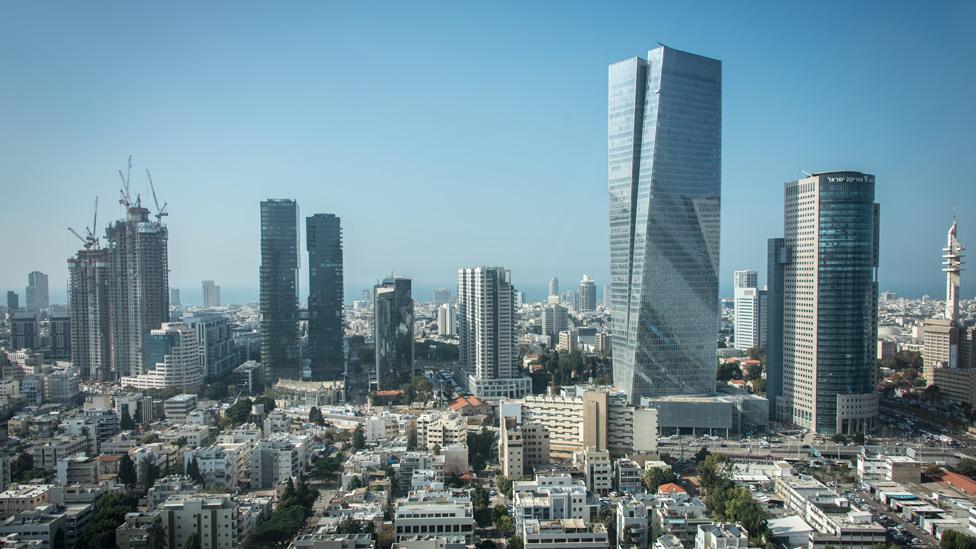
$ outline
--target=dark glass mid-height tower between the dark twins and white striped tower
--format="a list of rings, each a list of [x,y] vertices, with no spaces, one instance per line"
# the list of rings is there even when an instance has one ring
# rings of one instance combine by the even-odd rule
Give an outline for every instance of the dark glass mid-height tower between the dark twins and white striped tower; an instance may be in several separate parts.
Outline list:
[[[373,289],[373,339],[376,384],[395,389],[410,381],[413,367],[413,297],[410,279],[383,279]]]

